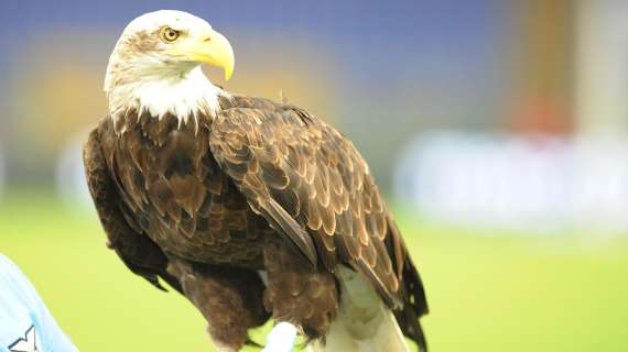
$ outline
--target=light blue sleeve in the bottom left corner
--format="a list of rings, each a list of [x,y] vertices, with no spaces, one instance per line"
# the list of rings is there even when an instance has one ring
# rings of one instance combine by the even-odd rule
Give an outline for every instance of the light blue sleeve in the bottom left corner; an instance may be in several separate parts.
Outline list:
[[[29,321],[36,331],[37,351],[41,352],[76,352],[76,346],[67,336],[61,330],[55,319],[37,295],[33,285],[20,271],[20,268],[9,258],[0,254],[0,309],[6,311],[0,314],[1,327],[10,327],[15,321]],[[10,309],[8,308],[10,307]],[[22,324],[23,326],[23,324]],[[23,328],[21,328],[23,330]],[[6,329],[7,330],[7,329]],[[20,339],[23,336],[20,332]],[[12,332],[14,336],[15,332]],[[9,339],[12,339],[9,337]],[[1,341],[2,339],[0,339]],[[4,350],[3,350],[4,349]],[[9,345],[0,344],[0,352],[7,352]]]

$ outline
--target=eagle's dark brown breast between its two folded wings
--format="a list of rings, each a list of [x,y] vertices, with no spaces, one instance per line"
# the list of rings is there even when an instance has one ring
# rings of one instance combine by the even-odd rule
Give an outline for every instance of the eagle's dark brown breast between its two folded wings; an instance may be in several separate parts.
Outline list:
[[[170,255],[209,264],[261,267],[261,240],[274,233],[253,213],[208,147],[207,117],[178,124],[129,110],[101,121],[102,154],[129,222]],[[116,125],[124,133],[116,134]]]

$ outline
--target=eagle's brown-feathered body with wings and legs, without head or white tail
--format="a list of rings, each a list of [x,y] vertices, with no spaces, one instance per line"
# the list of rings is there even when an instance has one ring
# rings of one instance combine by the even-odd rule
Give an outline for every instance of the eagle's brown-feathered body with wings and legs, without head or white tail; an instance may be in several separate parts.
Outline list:
[[[348,140],[302,109],[241,96],[178,121],[129,110],[102,119],[85,147],[109,245],[131,271],[156,286],[162,277],[215,341],[238,346],[270,315],[325,336],[345,265],[424,344],[421,280]]]

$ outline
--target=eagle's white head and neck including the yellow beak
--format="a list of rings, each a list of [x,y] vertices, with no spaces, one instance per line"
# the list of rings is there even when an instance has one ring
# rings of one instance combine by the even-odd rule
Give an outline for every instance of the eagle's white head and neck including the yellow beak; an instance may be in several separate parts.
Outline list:
[[[127,25],[118,40],[105,77],[109,113],[116,119],[128,109],[166,113],[180,121],[197,113],[214,116],[218,97],[226,95],[201,69],[234,72],[234,51],[207,21],[182,11],[145,13]]]

